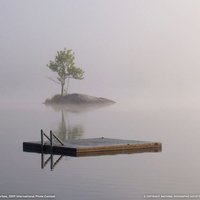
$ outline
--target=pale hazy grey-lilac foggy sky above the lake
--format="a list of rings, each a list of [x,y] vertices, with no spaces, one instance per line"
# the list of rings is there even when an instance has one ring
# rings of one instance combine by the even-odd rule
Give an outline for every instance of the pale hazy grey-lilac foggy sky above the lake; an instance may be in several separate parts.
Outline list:
[[[69,93],[200,102],[199,0],[0,0],[0,102],[60,93],[46,64],[72,49]]]

